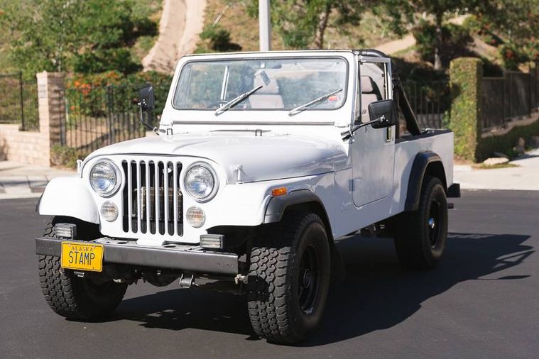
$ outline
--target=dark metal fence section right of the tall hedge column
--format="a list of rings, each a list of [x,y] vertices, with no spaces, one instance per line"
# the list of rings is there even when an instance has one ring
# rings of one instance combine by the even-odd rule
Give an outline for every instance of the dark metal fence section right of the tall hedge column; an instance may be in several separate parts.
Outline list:
[[[484,77],[481,126],[503,127],[514,118],[530,116],[539,106],[538,63],[526,72],[507,71],[503,77]]]

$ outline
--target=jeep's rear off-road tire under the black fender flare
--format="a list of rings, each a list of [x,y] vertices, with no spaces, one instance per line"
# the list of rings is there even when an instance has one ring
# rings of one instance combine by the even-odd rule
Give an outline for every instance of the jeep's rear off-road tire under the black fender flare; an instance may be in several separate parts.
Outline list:
[[[435,267],[447,240],[447,199],[442,182],[425,177],[419,207],[398,217],[395,248],[401,265],[412,269]]]

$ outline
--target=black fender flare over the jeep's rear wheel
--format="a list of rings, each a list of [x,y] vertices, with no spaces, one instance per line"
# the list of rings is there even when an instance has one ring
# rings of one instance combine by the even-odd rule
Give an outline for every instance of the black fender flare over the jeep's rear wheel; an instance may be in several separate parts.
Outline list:
[[[437,168],[432,171],[432,174],[440,178],[447,194],[444,165],[440,156],[430,151],[418,153],[413,160],[412,170],[408,180],[408,192],[406,193],[406,201],[404,204],[405,211],[415,211],[419,208],[419,197],[421,194],[423,178],[425,177],[428,166],[436,162],[439,163],[439,166],[437,165],[437,167],[441,167],[442,170],[440,171],[439,168]]]

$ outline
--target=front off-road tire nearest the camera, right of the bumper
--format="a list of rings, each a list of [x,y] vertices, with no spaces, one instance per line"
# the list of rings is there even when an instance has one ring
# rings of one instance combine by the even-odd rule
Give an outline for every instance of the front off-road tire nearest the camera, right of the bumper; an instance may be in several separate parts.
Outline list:
[[[320,324],[327,301],[331,259],[325,227],[317,214],[295,212],[264,229],[251,249],[249,318],[261,338],[298,343]]]

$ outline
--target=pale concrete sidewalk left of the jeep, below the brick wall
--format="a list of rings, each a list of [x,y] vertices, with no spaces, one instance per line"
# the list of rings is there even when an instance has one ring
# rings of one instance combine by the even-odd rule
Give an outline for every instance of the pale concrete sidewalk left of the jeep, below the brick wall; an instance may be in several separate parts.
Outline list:
[[[75,170],[25,165],[0,161],[0,199],[40,197],[47,183],[55,177],[73,176]]]

